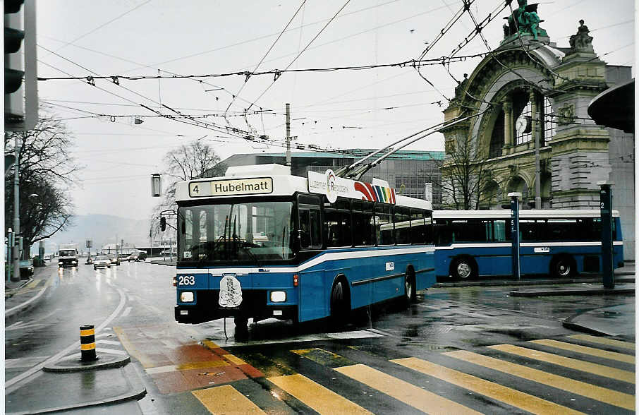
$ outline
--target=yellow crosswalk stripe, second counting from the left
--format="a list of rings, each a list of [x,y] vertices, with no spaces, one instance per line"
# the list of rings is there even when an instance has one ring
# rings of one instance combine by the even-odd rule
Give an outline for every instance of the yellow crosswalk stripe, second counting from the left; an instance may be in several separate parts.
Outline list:
[[[371,414],[358,404],[337,395],[304,375],[276,376],[268,380],[320,414]]]

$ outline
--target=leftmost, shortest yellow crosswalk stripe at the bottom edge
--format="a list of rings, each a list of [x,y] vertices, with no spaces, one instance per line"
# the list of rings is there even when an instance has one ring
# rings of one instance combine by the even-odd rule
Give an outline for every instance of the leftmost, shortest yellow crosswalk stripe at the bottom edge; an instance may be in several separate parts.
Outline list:
[[[212,414],[265,414],[260,407],[251,402],[231,385],[209,387],[194,390],[193,395],[200,399],[202,405]]]

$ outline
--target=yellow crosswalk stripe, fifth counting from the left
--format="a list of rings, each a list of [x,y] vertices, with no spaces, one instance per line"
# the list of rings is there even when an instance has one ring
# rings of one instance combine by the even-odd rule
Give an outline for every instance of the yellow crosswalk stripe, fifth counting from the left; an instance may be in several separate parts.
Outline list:
[[[470,363],[475,363],[476,365],[485,366],[487,368],[494,369],[495,371],[501,371],[520,378],[533,380],[537,383],[543,383],[544,385],[566,390],[577,395],[596,399],[600,402],[605,402],[616,407],[630,409],[631,411],[635,410],[635,397],[633,395],[628,395],[627,393],[590,385],[590,383],[580,382],[579,380],[564,378],[564,376],[539,371],[537,369],[528,368],[509,361],[494,359],[489,356],[473,353],[472,351],[450,351],[448,353],[444,353],[444,355],[468,361]]]

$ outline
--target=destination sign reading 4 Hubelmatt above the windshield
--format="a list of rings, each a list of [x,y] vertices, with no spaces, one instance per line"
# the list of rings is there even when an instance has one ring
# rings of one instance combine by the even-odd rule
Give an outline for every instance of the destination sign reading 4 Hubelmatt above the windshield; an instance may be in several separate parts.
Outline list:
[[[188,196],[206,198],[212,196],[260,195],[273,192],[271,177],[252,177],[250,179],[224,179],[211,181],[191,181],[188,184]]]

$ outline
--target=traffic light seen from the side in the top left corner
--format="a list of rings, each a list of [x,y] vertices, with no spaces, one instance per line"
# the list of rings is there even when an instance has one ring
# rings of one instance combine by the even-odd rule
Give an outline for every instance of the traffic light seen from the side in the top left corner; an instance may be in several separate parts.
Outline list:
[[[4,0],[6,131],[27,131],[37,123],[36,66],[35,0]]]

